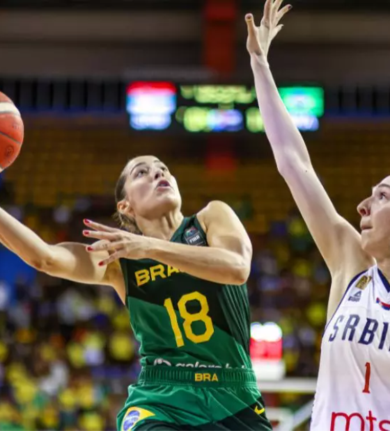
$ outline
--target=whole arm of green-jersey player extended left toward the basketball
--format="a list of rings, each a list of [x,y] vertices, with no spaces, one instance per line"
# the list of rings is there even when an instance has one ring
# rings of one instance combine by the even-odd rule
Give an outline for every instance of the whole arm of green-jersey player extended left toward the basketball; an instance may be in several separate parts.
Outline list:
[[[86,245],[79,243],[49,245],[1,208],[0,242],[39,271],[80,283],[107,284],[125,299],[118,264],[98,265],[107,258],[108,252],[91,254],[86,251]]]

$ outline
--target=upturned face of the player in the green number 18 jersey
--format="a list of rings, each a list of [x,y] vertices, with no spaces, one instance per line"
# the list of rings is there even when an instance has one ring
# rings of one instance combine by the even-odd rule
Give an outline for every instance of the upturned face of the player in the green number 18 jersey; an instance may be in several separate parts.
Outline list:
[[[126,171],[125,193],[131,215],[153,219],[180,208],[176,179],[157,157],[133,158]]]

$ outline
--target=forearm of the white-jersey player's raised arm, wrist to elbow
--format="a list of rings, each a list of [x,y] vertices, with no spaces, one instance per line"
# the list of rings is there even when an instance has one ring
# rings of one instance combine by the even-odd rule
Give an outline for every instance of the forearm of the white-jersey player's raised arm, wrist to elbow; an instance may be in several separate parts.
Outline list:
[[[279,170],[291,161],[310,164],[304,140],[283,104],[267,62],[263,57],[252,54],[251,66],[258,106]]]

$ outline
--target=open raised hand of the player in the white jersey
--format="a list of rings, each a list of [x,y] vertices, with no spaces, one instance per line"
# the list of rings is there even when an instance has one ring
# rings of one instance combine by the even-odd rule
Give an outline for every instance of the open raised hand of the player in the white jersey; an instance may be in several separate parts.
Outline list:
[[[263,56],[267,60],[272,40],[283,29],[280,20],[292,8],[290,4],[281,8],[283,0],[267,0],[264,5],[264,15],[260,27],[256,24],[251,13],[245,16],[248,27],[247,49],[249,54]]]

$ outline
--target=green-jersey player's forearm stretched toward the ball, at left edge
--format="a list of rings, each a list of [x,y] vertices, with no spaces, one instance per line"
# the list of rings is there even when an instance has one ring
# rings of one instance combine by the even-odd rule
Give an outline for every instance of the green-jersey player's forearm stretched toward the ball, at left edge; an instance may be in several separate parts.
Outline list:
[[[35,268],[50,256],[50,246],[45,241],[1,208],[0,242]]]

